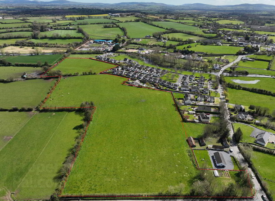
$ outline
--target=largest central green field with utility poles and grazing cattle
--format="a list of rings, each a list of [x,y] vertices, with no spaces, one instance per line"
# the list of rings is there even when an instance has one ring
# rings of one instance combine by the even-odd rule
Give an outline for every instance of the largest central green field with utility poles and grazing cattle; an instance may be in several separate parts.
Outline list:
[[[181,183],[183,193],[189,192],[197,170],[171,93],[124,86],[124,80],[105,74],[68,77],[46,103],[91,100],[97,107],[63,195],[157,194]]]

